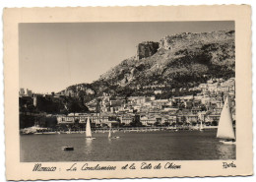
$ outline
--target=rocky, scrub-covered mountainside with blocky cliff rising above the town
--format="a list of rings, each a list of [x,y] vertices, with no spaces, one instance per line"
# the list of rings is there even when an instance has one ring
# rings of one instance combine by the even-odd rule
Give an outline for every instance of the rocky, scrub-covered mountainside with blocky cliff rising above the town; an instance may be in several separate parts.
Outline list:
[[[142,42],[135,56],[123,60],[92,84],[76,85],[62,93],[90,100],[111,95],[150,94],[153,88],[192,88],[211,78],[228,79],[235,71],[234,30],[183,32],[160,42]]]

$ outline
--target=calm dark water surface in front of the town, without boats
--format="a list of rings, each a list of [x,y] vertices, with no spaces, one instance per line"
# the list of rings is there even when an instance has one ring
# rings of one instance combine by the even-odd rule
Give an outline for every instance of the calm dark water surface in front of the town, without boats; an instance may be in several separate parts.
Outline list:
[[[216,139],[217,131],[178,131],[123,133],[108,140],[108,133],[22,135],[21,161],[116,161],[116,160],[201,160],[235,159],[235,145],[224,145]],[[73,152],[62,151],[74,147]]]

